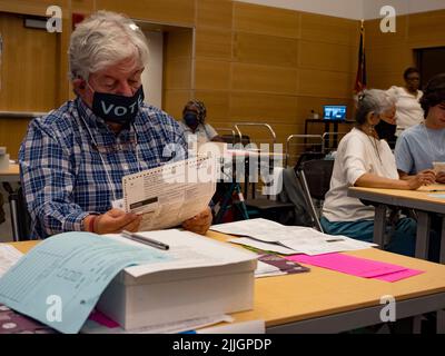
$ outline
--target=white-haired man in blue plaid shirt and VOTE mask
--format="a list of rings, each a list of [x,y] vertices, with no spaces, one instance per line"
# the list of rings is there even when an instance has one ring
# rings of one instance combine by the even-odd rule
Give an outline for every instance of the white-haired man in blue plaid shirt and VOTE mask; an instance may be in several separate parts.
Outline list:
[[[123,176],[187,157],[184,131],[144,103],[146,38],[125,16],[98,11],[71,34],[76,99],[31,121],[20,148],[32,237],[138,230],[140,217],[112,208]],[[182,224],[205,234],[210,209]]]

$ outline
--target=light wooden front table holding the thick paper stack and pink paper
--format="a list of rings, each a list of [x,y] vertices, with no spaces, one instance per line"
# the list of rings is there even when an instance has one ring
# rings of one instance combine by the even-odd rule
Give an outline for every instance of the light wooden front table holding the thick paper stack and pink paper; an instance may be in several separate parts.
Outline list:
[[[227,236],[207,234],[218,240]],[[37,241],[12,244],[27,251]],[[445,266],[378,249],[347,255],[392,263],[426,273],[387,283],[310,266],[309,273],[257,278],[254,309],[235,313],[235,322],[263,319],[267,333],[339,333],[379,324],[383,296],[396,299],[396,318],[445,309]],[[445,323],[438,318],[438,333]]]

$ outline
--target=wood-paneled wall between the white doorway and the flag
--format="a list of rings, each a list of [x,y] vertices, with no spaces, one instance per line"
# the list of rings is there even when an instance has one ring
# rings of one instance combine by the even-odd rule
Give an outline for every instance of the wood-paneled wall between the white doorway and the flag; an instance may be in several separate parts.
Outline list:
[[[304,132],[312,109],[352,110],[357,21],[228,0],[196,3],[194,93],[216,128],[267,122],[284,142]],[[245,130],[269,138],[264,128]]]

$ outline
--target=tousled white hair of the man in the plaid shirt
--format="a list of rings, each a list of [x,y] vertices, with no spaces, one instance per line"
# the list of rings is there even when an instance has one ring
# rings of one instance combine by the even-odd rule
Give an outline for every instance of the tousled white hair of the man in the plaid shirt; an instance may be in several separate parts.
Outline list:
[[[137,57],[145,66],[148,44],[139,27],[123,14],[98,11],[76,27],[68,50],[70,78],[88,80],[90,73]]]

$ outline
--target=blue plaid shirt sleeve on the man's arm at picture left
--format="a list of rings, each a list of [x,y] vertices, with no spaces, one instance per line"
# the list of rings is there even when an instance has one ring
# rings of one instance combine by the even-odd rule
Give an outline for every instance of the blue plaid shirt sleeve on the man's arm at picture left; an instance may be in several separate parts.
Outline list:
[[[68,150],[51,130],[33,120],[20,147],[20,178],[33,237],[82,229],[88,215],[71,201],[75,172]]]

